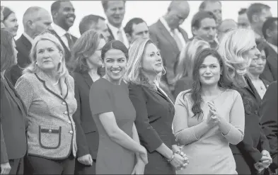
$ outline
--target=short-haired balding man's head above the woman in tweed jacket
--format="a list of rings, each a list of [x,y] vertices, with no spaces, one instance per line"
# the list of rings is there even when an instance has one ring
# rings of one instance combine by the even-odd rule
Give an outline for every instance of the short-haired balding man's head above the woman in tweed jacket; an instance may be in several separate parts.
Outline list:
[[[44,30],[51,29],[51,23],[50,13],[39,6],[31,6],[23,15],[24,31],[30,37],[34,37],[34,35],[42,33]]]

